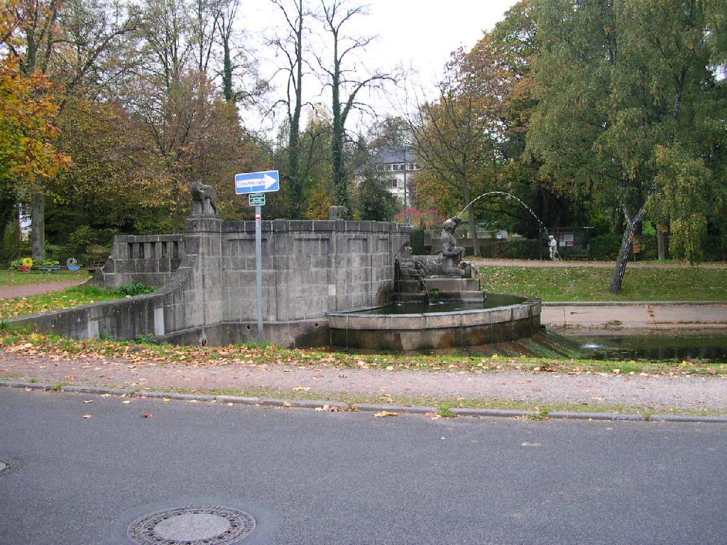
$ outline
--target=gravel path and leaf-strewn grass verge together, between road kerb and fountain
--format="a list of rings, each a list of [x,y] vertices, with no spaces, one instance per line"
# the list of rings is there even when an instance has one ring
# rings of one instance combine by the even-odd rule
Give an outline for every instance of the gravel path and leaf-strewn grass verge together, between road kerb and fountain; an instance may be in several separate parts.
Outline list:
[[[437,408],[727,413],[727,366],[513,355],[361,355],[0,335],[0,379]],[[512,347],[505,352],[510,352]]]

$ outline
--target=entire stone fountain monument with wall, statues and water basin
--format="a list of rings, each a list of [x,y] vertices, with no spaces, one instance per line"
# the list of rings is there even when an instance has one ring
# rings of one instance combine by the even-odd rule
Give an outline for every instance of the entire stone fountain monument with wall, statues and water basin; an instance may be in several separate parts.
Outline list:
[[[185,233],[119,235],[95,286],[137,281],[153,294],[9,320],[74,339],[153,335],[174,344],[259,339],[254,233],[262,231],[263,338],[286,347],[369,350],[477,346],[531,336],[540,301],[483,294],[454,232],[443,224],[438,256],[412,255],[409,226],[275,219],[228,222],[214,188],[190,187]],[[399,249],[396,251],[396,249]],[[385,306],[389,304],[389,306]]]

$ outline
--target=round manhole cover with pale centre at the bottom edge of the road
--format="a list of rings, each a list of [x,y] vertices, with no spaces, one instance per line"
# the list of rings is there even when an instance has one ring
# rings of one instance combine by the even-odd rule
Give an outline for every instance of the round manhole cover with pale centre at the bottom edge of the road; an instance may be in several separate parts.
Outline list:
[[[229,545],[255,528],[238,509],[217,505],[186,506],[145,514],[126,530],[138,545]]]

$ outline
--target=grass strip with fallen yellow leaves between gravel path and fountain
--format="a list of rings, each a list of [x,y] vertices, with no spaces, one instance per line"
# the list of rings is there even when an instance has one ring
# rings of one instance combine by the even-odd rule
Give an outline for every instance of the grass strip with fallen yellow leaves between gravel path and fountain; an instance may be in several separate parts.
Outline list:
[[[316,374],[314,379],[324,376],[325,368],[355,368],[379,369],[382,371],[422,370],[444,373],[472,373],[497,371],[529,372],[558,372],[571,374],[602,374],[608,376],[619,374],[635,374],[635,372],[648,371],[648,374],[712,374],[727,375],[727,366],[722,364],[718,368],[708,367],[707,363],[688,362],[673,365],[664,363],[635,361],[619,364],[611,368],[608,362],[595,362],[588,360],[567,360],[561,358],[535,358],[508,355],[467,355],[467,354],[348,354],[343,352],[325,352],[324,350],[282,349],[275,345],[257,344],[230,344],[222,347],[196,347],[176,346],[172,344],[138,344],[134,342],[116,342],[102,339],[89,339],[75,341],[60,336],[18,333],[14,331],[0,331],[0,351],[10,354],[27,356],[28,358],[54,362],[68,361],[83,363],[81,369],[102,371],[105,366],[124,366],[132,374],[137,374],[145,368],[161,367],[167,364],[178,364],[185,368],[212,368],[231,366],[234,368],[247,368],[256,372],[268,371],[294,371],[296,368],[311,369]],[[543,336],[540,339],[542,346],[551,352],[558,352],[551,347],[553,339]],[[530,350],[526,344],[516,342],[502,344],[502,350],[518,352]],[[632,368],[624,369],[630,365]],[[58,363],[55,363],[58,366]],[[635,368],[633,366],[640,366]],[[633,371],[635,369],[635,371]],[[354,371],[355,372],[355,371]],[[337,374],[340,378],[347,378],[346,374]],[[294,387],[294,392],[305,392],[310,389],[305,386]]]

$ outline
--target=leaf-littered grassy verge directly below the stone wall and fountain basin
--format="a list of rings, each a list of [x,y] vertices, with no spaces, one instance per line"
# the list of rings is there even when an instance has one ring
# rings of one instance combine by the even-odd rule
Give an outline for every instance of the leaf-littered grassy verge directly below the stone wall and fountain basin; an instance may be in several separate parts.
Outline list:
[[[62,336],[3,331],[0,349],[49,358],[122,358],[129,362],[184,363],[195,367],[269,366],[325,367],[334,369],[382,369],[385,371],[502,371],[606,372],[611,374],[727,375],[727,365],[693,361],[587,360],[563,355],[567,341],[554,334],[540,334],[531,341],[503,343],[493,352],[466,354],[361,354],[321,350],[285,349],[275,345],[233,344],[223,347],[192,347],[173,344],[115,342],[102,339],[75,341]],[[539,353],[539,355],[534,355]],[[575,352],[574,352],[575,353]]]

